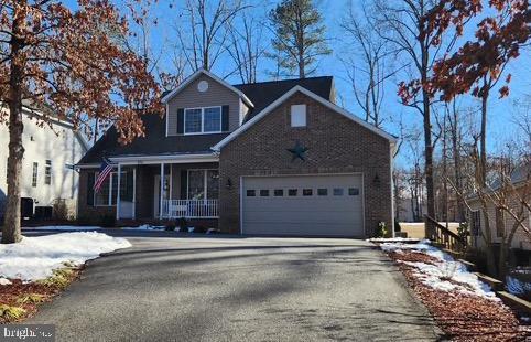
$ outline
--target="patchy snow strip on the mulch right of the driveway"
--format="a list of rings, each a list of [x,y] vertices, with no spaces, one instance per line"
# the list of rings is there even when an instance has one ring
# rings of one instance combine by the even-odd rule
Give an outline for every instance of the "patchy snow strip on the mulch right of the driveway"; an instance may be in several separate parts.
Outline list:
[[[436,258],[435,265],[425,263],[401,261],[413,267],[414,275],[426,286],[442,291],[459,291],[466,295],[475,295],[491,300],[499,300],[490,287],[480,281],[478,277],[469,272],[465,265],[455,261],[454,258],[438,248],[430,245],[424,239],[418,244],[383,243],[380,245],[384,252],[402,253],[403,250],[423,253]]]

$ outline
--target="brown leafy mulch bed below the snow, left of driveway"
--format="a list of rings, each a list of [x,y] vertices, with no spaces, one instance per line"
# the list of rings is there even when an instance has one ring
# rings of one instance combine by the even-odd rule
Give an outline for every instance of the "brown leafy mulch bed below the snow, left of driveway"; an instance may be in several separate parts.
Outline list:
[[[72,284],[72,281],[79,278],[79,275],[83,270],[82,268],[73,269],[72,275],[67,277],[67,285]],[[23,317],[17,320],[10,320],[2,316],[0,316],[0,324],[2,323],[11,323],[11,322],[20,322],[24,319],[32,317],[37,311],[37,307],[42,302],[51,301],[53,297],[61,293],[66,286],[58,286],[58,285],[44,285],[40,282],[22,282],[19,279],[11,280],[11,285],[0,285],[0,306],[7,304],[10,307],[22,308],[25,310]],[[41,295],[43,296],[43,301],[40,303],[32,303],[25,302],[21,303],[19,300],[28,295]]]

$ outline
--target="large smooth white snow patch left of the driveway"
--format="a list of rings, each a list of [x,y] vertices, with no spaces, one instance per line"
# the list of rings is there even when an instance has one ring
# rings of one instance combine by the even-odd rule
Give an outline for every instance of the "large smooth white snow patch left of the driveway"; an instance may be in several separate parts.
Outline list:
[[[79,266],[101,253],[128,247],[131,244],[127,239],[97,232],[23,237],[18,244],[0,245],[0,280],[45,279],[65,263]]]

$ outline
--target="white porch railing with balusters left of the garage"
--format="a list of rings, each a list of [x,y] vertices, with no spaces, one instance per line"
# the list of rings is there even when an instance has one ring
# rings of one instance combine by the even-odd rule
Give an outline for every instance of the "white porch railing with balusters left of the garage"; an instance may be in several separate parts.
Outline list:
[[[217,200],[163,200],[163,218],[217,218]]]

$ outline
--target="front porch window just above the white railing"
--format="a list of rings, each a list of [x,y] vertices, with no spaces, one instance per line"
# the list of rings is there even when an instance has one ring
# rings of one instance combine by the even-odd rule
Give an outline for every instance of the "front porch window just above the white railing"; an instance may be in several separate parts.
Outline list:
[[[188,170],[188,200],[217,200],[219,197],[218,170]]]

